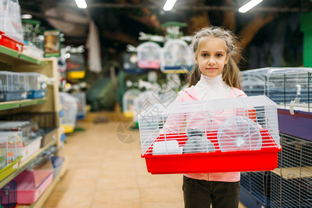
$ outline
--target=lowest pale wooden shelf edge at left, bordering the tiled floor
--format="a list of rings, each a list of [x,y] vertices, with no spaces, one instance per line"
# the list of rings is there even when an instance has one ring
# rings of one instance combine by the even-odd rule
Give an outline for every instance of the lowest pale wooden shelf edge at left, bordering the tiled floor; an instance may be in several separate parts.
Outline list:
[[[38,200],[32,205],[19,205],[18,208],[41,208],[43,207],[44,202],[47,201],[47,199],[51,195],[52,191],[55,189],[58,182],[60,182],[63,175],[65,175],[68,164],[69,164],[69,158],[65,157],[62,168],[60,169],[60,173],[54,178],[54,180],[51,182],[49,187],[44,191],[44,193],[42,193],[40,198],[38,198]]]

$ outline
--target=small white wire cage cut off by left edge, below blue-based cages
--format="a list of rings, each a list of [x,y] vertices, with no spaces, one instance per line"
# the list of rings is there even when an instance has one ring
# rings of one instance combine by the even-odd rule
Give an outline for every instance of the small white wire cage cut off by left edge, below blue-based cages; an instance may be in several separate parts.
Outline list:
[[[21,132],[0,132],[0,169],[17,159],[17,143]]]

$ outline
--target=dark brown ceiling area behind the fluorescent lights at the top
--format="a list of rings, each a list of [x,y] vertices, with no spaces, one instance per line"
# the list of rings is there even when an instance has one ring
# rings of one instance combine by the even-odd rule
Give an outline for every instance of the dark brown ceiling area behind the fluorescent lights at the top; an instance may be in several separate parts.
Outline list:
[[[86,10],[77,8],[74,0],[24,0],[19,3],[22,14],[33,15],[33,19],[42,22],[43,28],[54,28],[51,20],[76,26],[72,33],[65,33],[65,44],[85,44],[88,19],[93,19],[102,46],[112,50],[124,50],[126,44],[137,46],[141,31],[165,35],[165,28],[161,25],[167,21],[185,22],[187,26],[182,28],[185,35],[192,35],[198,28],[208,24],[225,26],[236,31],[242,38],[243,46],[246,46],[257,31],[273,19],[312,10],[312,0],[264,0],[245,14],[239,13],[238,8],[249,0],[178,0],[171,12],[163,11],[165,0],[86,1]],[[56,15],[51,15],[51,10]],[[87,21],[66,17],[69,13]]]

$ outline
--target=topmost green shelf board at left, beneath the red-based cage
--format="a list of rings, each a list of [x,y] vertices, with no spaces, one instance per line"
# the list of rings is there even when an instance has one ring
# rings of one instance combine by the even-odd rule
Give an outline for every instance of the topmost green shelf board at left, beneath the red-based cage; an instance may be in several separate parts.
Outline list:
[[[31,64],[38,64],[44,66],[46,63],[42,60],[38,60],[32,58],[28,55],[24,55],[19,53],[19,51],[15,51],[13,49],[9,49],[6,46],[0,46],[0,62],[7,63],[7,62],[24,62],[31,63]]]

